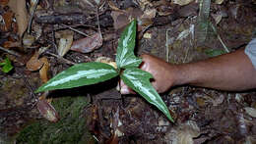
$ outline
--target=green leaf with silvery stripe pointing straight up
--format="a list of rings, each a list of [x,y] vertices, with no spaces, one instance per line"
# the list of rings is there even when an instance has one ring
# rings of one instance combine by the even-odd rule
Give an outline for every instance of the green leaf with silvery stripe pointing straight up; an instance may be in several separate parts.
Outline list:
[[[118,41],[116,65],[118,70],[139,67],[142,60],[135,57],[136,20],[128,24]]]

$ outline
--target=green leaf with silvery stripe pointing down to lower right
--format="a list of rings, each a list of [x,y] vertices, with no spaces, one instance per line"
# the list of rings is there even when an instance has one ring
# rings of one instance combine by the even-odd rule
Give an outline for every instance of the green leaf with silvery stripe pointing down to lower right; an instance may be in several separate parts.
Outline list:
[[[174,122],[168,108],[150,82],[150,78],[153,78],[151,73],[144,72],[138,68],[130,68],[121,74],[121,78],[126,85],[142,95],[148,102],[155,105],[169,120]]]

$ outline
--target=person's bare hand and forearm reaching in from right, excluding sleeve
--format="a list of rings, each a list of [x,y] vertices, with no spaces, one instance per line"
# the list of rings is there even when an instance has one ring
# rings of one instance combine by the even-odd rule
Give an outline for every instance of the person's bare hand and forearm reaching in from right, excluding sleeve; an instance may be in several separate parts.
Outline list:
[[[256,88],[256,70],[244,49],[182,65],[172,65],[151,55],[142,55],[142,59],[144,63],[141,69],[153,74],[153,86],[160,93],[183,84],[227,91]],[[121,81],[121,93],[133,92]]]

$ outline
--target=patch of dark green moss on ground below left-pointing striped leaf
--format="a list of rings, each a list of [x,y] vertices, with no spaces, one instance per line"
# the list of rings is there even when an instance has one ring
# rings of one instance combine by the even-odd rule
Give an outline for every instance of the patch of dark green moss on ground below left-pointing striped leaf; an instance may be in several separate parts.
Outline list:
[[[87,131],[86,120],[81,116],[88,104],[85,97],[62,97],[52,105],[60,115],[56,123],[39,120],[24,128],[18,135],[17,143],[28,144],[76,144],[94,143]]]

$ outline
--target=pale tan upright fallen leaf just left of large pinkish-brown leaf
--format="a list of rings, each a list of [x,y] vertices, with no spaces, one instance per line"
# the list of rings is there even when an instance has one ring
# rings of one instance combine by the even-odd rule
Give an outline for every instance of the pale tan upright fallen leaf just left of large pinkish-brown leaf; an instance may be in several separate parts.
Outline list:
[[[59,40],[58,55],[63,57],[71,48],[73,42],[73,34],[64,35]]]

